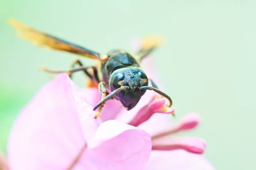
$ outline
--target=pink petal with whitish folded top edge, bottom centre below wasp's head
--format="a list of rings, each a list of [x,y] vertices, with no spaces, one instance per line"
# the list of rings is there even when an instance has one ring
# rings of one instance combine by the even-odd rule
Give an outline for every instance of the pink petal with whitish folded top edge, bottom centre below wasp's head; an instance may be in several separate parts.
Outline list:
[[[84,153],[81,164],[95,170],[140,170],[151,153],[151,137],[116,120],[103,122]]]

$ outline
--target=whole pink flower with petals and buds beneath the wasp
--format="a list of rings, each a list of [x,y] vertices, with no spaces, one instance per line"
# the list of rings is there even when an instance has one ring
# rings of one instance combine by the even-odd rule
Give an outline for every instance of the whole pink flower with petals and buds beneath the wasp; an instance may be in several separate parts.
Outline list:
[[[151,136],[144,130],[116,120],[108,120],[117,115],[113,114],[114,111],[122,112],[117,115],[119,118],[124,118],[122,114],[129,114],[123,111],[121,104],[116,101],[109,101],[106,104],[108,108],[99,119],[94,119],[95,112],[87,102],[93,101],[90,99],[93,93],[95,98],[100,95],[96,94],[98,91],[94,88],[82,91],[66,74],[59,74],[35,95],[18,116],[10,133],[7,156],[11,170],[148,170],[161,166],[183,170],[186,167],[181,166],[185,165],[188,165],[190,170],[212,169],[199,155],[174,151],[180,148],[190,148],[186,150],[191,151],[191,148],[195,147],[197,149],[193,152],[197,153],[198,148],[201,148],[198,147],[198,142],[195,142],[195,146],[189,146],[190,142],[181,140],[183,144],[180,145],[179,141],[176,141],[179,144],[172,145],[177,139],[169,140],[171,143],[168,144],[152,139],[152,147]],[[86,98],[88,95],[89,99]],[[151,92],[146,93],[136,109],[146,102],[148,95],[151,95]],[[137,119],[141,114],[152,114],[161,110],[159,105],[162,103],[162,99],[155,99],[145,106],[130,124],[139,125],[143,122],[140,122],[142,119]],[[148,112],[147,108],[152,110]],[[162,112],[168,114],[173,113],[173,110]],[[131,115],[133,113],[131,112]],[[105,119],[105,122],[102,119]],[[147,121],[147,124],[150,124],[150,121]],[[191,121],[183,121],[185,123],[175,126],[176,130],[172,130],[172,133],[195,126]],[[197,122],[198,120],[195,120],[195,124]],[[154,125],[162,124],[164,122]],[[161,148],[161,144],[164,144],[165,148]],[[151,152],[151,148],[172,151]],[[204,146],[198,153],[203,150]],[[200,166],[202,168],[199,168]]]

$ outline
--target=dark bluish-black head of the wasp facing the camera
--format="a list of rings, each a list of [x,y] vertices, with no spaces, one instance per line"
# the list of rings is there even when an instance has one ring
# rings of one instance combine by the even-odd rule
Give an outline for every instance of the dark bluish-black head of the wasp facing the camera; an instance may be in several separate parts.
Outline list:
[[[129,89],[121,91],[114,97],[119,100],[128,110],[134,108],[146,90],[139,89],[148,85],[148,77],[140,68],[126,67],[119,68],[111,74],[109,86],[111,91],[128,86]]]

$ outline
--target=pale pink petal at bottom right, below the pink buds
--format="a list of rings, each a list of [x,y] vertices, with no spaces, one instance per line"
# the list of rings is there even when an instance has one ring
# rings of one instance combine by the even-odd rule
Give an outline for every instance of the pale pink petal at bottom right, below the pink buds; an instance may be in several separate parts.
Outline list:
[[[214,170],[204,156],[184,150],[152,151],[144,170]]]

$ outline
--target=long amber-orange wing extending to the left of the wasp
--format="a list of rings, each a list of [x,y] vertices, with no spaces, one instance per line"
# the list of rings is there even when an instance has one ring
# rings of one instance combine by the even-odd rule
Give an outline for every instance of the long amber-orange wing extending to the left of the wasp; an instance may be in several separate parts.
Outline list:
[[[26,40],[35,42],[41,47],[48,47],[59,51],[67,51],[73,54],[77,54],[83,57],[88,57],[92,59],[100,59],[100,54],[91,51],[87,48],[81,47],[80,45],[67,42],[58,37],[37,31],[33,28],[20,23],[14,19],[10,19],[9,23],[16,28],[17,33],[20,37],[23,37]]]

